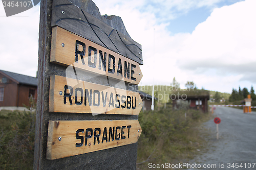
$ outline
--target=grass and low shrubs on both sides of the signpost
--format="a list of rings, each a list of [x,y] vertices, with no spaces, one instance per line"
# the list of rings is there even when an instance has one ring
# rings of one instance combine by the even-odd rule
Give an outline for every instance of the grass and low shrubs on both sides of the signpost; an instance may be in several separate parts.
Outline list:
[[[177,164],[193,159],[206,145],[200,125],[210,116],[172,108],[141,112],[137,169],[148,169],[149,162]],[[0,111],[0,169],[33,169],[34,133],[32,110]]]

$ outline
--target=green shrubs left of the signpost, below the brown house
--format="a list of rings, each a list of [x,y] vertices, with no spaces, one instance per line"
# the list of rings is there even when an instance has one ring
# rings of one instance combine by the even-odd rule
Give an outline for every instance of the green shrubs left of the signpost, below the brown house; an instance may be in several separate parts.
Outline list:
[[[0,169],[33,169],[35,101],[30,111],[0,111]]]

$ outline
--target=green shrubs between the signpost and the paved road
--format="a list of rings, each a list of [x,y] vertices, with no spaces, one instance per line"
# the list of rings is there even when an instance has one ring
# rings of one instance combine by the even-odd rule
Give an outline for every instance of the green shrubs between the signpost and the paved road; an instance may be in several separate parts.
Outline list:
[[[149,162],[179,163],[192,159],[197,150],[205,145],[199,126],[209,116],[198,110],[141,112],[139,122],[142,133],[138,140],[137,169],[148,169]]]

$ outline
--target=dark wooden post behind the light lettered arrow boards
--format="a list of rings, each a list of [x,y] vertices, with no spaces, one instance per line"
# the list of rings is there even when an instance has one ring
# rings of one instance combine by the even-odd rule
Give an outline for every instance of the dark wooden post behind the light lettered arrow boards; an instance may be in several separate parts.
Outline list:
[[[67,1],[67,3],[69,2]],[[66,74],[67,67],[50,62],[53,1],[42,0],[40,4],[34,169],[136,169],[137,142],[55,160],[47,159],[49,120],[134,120],[138,119],[138,115],[99,114],[93,116],[92,114],[82,113],[49,112],[50,76],[57,75],[73,79],[76,79],[76,77]],[[130,55],[130,52],[127,52],[127,54]],[[141,52],[138,54],[141,54]],[[84,77],[90,78],[91,75],[87,73]],[[109,82],[100,76],[90,81],[110,86]],[[125,83],[124,87],[118,88],[132,91],[138,90],[137,85],[129,85],[128,83]]]

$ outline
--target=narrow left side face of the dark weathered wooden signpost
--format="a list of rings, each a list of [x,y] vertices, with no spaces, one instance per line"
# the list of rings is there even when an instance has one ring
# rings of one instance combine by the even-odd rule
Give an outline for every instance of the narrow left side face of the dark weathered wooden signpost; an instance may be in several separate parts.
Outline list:
[[[47,143],[47,111],[45,93],[49,91],[49,81],[47,81],[46,65],[50,57],[51,48],[51,15],[52,0],[41,0],[40,2],[40,22],[39,22],[39,43],[38,43],[38,86],[36,105],[36,127],[35,127],[35,148],[34,148],[34,169],[47,169],[46,166],[46,143]],[[49,98],[49,95],[48,95]]]

